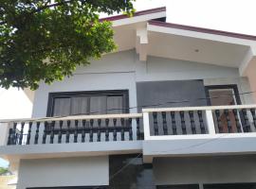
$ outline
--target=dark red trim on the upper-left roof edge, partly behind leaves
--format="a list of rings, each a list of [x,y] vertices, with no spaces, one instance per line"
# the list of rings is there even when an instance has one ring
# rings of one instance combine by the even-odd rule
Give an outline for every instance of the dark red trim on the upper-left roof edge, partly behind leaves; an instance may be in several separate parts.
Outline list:
[[[162,8],[146,9],[146,10],[137,11],[133,15],[133,17],[141,16],[141,15],[145,15],[145,14],[152,14],[152,13],[161,12],[161,11],[166,11],[166,8],[162,7]],[[121,14],[121,15],[117,15],[117,16],[101,18],[100,21],[116,21],[116,20],[120,20],[120,19],[124,19],[124,18],[129,18],[129,16]]]

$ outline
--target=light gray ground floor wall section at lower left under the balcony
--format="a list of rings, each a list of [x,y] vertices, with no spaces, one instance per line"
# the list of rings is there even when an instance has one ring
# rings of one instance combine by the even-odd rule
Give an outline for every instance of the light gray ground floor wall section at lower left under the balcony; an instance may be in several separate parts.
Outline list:
[[[22,160],[17,189],[108,185],[108,156]]]

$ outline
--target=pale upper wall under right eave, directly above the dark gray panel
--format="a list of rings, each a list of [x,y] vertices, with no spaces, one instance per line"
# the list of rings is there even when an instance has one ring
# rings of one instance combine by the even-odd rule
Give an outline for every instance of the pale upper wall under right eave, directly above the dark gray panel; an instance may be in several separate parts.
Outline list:
[[[239,77],[238,69],[185,60],[148,57],[138,81]]]

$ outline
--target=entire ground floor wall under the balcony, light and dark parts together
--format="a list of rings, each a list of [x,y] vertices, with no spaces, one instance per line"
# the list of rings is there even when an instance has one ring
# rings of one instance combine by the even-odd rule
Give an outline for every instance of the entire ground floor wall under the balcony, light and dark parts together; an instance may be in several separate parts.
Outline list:
[[[23,160],[17,189],[203,189],[215,183],[256,183],[256,156],[155,158],[152,164],[143,163],[142,154]]]

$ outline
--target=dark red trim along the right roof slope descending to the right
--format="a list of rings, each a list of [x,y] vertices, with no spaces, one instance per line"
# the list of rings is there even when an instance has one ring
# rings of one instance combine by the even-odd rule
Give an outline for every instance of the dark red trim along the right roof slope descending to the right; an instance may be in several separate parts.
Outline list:
[[[149,24],[154,25],[154,26],[172,27],[172,28],[177,28],[177,29],[185,29],[185,30],[191,30],[191,31],[196,31],[196,32],[210,33],[210,34],[215,34],[215,35],[222,35],[222,36],[228,36],[228,37],[233,37],[233,38],[240,38],[240,39],[245,39],[245,40],[256,41],[256,36],[241,34],[241,33],[233,33],[233,32],[229,32],[229,31],[221,31],[221,30],[196,27],[196,26],[177,25],[177,24],[173,24],[173,23],[163,23],[163,22],[159,22],[159,21],[149,21]]]

